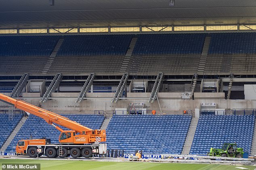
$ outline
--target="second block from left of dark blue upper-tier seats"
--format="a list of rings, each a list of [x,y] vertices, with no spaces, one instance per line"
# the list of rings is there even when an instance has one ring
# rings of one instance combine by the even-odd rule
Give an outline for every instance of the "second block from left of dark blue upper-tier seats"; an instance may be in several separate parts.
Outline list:
[[[68,35],[58,55],[125,55],[132,35]]]

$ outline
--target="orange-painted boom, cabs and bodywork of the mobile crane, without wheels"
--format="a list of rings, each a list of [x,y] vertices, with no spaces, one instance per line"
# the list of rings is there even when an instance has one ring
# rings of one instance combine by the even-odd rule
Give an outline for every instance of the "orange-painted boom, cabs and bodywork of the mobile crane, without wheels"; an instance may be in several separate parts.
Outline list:
[[[63,139],[63,140],[59,139],[60,143],[77,143],[77,144],[78,143],[79,144],[94,143],[96,141],[96,137],[100,137],[101,142],[106,141],[106,131],[105,130],[90,129],[88,127],[85,127],[85,126],[77,123],[76,121],[71,121],[64,116],[47,111],[40,107],[36,107],[33,104],[24,102],[23,100],[11,98],[11,97],[6,96],[1,93],[0,93],[0,100],[7,102],[9,104],[13,104],[15,106],[15,108],[17,108],[17,109],[21,109],[23,111],[26,111],[33,115],[41,117],[50,125],[57,124],[57,125],[61,125],[63,127],[67,127],[68,129],[71,129],[71,131],[64,131],[60,127],[54,125],[55,128],[58,129],[59,131],[61,131],[62,133],[67,133],[67,132],[71,133],[71,139],[70,138]],[[75,133],[75,135],[73,135],[73,133]],[[79,133],[79,134],[76,135],[76,133]],[[37,139],[27,140],[27,144],[29,144],[29,141],[33,142],[34,140],[37,140]],[[38,141],[39,140],[40,139],[38,139]],[[25,142],[25,145],[26,145],[26,142]]]

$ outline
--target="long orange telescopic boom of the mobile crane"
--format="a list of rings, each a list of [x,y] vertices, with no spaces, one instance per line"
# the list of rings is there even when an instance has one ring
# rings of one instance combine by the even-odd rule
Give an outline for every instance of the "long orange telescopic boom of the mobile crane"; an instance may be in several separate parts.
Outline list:
[[[50,125],[52,125],[52,123],[55,123],[57,125],[61,125],[63,127],[67,127],[68,129],[74,130],[80,134],[87,134],[93,131],[93,129],[85,127],[77,123],[76,121],[71,121],[67,117],[64,117],[56,113],[42,109],[40,107],[34,106],[33,104],[29,104],[27,102],[24,102],[23,100],[14,99],[1,93],[0,93],[0,100],[2,100],[3,102],[7,102],[8,104],[14,105],[15,108],[17,109],[21,109],[23,111],[26,111],[33,115],[41,117]],[[63,129],[61,129],[56,125],[54,126],[59,131],[63,132]]]

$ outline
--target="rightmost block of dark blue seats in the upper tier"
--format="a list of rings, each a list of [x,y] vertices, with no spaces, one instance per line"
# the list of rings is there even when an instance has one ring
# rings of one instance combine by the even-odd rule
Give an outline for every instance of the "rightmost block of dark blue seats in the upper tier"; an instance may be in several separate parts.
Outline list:
[[[212,33],[209,54],[256,53],[256,33]]]

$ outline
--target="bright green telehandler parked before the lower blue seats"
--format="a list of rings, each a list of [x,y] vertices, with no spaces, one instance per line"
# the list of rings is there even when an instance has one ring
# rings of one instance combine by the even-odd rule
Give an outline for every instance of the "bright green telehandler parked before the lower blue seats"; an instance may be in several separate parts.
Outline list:
[[[236,143],[224,143],[221,149],[211,148],[207,156],[221,156],[231,158],[243,158],[243,148],[237,147]]]

